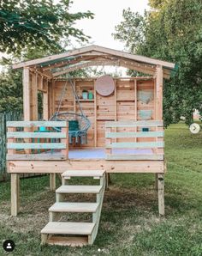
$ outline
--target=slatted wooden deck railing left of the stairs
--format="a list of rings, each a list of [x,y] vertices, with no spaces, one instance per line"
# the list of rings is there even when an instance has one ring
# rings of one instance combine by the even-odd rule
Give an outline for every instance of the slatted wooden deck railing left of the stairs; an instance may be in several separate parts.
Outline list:
[[[7,140],[7,160],[68,159],[66,121],[8,121]]]

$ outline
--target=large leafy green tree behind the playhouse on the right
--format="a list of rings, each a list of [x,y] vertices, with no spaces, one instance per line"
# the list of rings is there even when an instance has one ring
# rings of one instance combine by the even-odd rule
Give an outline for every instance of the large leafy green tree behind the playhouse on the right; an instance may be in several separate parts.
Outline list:
[[[202,111],[202,3],[200,0],[151,0],[156,8],[141,16],[123,11],[115,39],[129,52],[178,64],[179,69],[163,88],[165,125],[181,115],[192,122],[193,109]]]

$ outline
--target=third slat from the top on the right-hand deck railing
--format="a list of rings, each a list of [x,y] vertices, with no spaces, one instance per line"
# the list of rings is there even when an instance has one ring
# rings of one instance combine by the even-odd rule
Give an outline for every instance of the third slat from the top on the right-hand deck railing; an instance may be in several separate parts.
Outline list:
[[[106,145],[106,149],[140,149],[140,148],[163,148],[163,142],[146,142],[146,143],[110,143]]]

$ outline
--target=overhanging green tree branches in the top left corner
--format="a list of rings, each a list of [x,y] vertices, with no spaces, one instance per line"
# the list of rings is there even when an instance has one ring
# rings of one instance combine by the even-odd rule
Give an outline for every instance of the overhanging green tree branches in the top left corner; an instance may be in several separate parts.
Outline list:
[[[70,0],[4,0],[0,2],[0,52],[20,54],[27,47],[60,49],[60,40],[88,37],[74,21],[92,18],[90,11],[69,13]]]

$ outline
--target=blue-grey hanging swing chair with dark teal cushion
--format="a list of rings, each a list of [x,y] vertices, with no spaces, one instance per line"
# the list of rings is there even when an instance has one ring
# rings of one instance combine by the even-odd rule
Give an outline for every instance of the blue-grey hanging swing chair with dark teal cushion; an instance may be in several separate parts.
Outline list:
[[[65,94],[68,82],[70,82],[75,100],[77,101],[77,103],[80,107],[80,113],[60,112],[60,108],[62,105],[62,99]],[[68,79],[68,81],[65,83],[65,85],[62,89],[59,106],[57,108],[56,113],[50,118],[50,120],[53,120],[53,121],[66,121],[67,120],[68,121],[68,142],[69,143],[73,143],[73,138],[75,138],[75,143],[80,143],[80,144],[87,143],[87,131],[91,127],[91,122],[89,119],[87,119],[86,115],[83,113],[82,107],[80,105],[79,97],[76,94],[76,92],[74,90],[74,85],[70,79]],[[61,128],[56,127],[55,130],[61,131]]]

